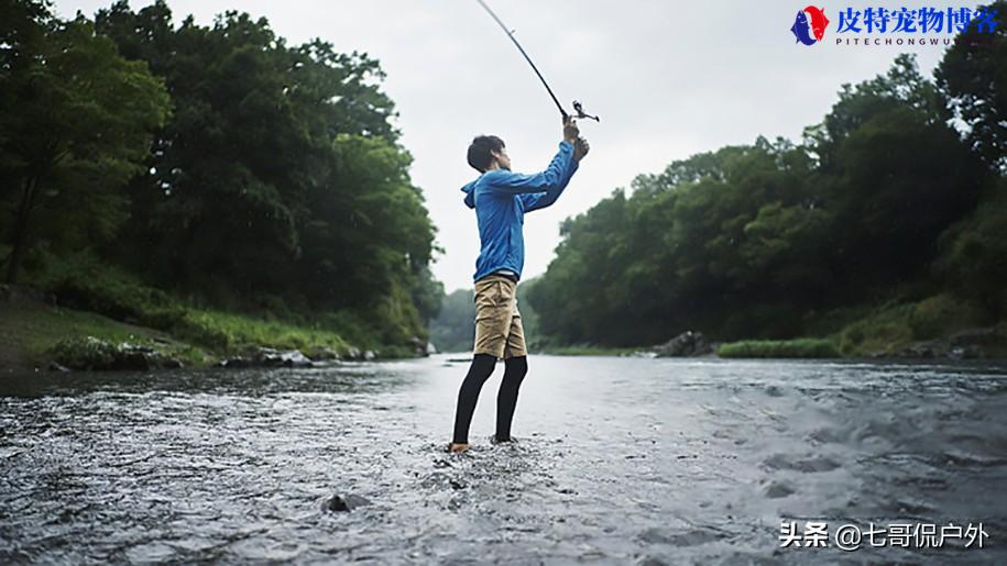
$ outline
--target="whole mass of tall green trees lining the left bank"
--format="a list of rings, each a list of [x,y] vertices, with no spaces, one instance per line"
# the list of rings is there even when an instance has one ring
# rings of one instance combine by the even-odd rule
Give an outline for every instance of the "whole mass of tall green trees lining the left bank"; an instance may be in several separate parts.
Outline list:
[[[436,229],[379,62],[247,13],[176,23],[163,0],[0,7],[9,282],[87,253],[207,304],[425,334]]]

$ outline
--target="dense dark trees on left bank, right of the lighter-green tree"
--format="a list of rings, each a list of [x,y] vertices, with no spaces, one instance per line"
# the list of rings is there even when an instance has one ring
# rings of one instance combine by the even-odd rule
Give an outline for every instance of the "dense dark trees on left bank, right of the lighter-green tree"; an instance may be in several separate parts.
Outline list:
[[[163,76],[176,106],[135,179],[109,248],[158,285],[212,303],[353,310],[397,341],[425,334],[442,290],[435,227],[365,54],[287,45],[264,19],[227,12],[177,27],[163,1],[124,1],[97,27]]]

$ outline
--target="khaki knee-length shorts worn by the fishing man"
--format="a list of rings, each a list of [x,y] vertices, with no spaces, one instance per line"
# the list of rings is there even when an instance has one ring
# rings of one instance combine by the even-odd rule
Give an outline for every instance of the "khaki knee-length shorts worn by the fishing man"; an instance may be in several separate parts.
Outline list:
[[[517,284],[502,275],[491,274],[475,281],[475,347],[472,353],[504,359],[528,355],[517,311]]]

